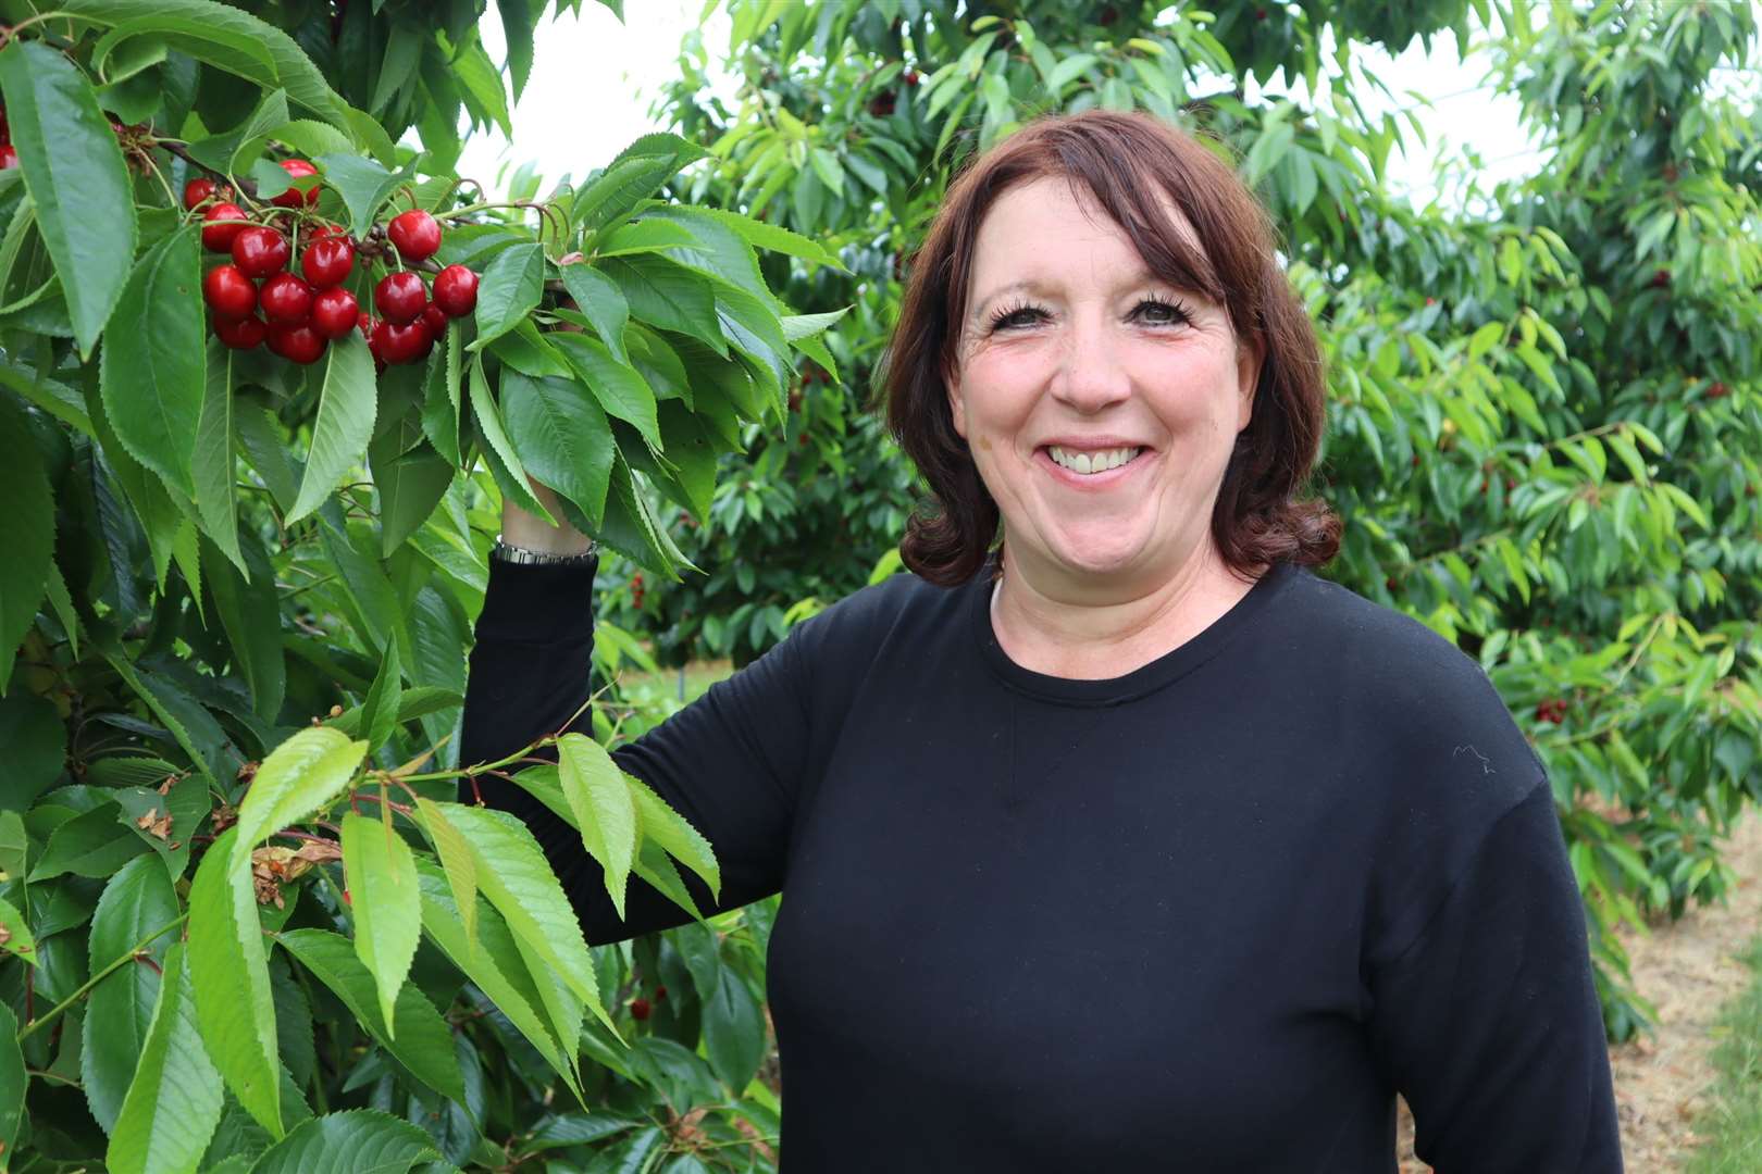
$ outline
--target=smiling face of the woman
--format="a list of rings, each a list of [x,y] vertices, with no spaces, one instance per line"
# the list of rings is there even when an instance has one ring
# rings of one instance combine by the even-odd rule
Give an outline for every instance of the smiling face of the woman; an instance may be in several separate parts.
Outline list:
[[[980,224],[959,331],[950,407],[1011,563],[1078,593],[1151,590],[1209,547],[1258,377],[1221,305],[1152,276],[1070,183],[1036,180]]]

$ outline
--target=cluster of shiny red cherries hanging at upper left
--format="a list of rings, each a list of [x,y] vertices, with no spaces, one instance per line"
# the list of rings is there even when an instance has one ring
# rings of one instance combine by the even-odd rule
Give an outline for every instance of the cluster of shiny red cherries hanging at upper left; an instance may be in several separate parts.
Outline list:
[[[303,158],[282,160],[294,180],[315,176]],[[317,202],[317,187],[287,188],[270,202],[300,209]],[[478,306],[478,275],[465,266],[446,266],[433,275],[433,289],[416,269],[395,268],[374,285],[375,319],[344,289],[354,273],[356,252],[366,253],[335,224],[307,232],[300,273],[292,273],[292,246],[284,227],[255,224],[231,199],[231,192],[208,178],[190,180],[183,206],[203,211],[203,246],[229,253],[203,278],[203,301],[213,310],[215,336],[234,350],[268,347],[292,363],[317,363],[331,340],[361,331],[381,366],[419,363],[446,334],[451,319]],[[381,229],[374,229],[377,236]],[[400,213],[384,227],[407,264],[421,266],[440,248],[440,222],[419,208]],[[374,250],[381,255],[379,250]],[[430,296],[432,294],[432,296]]]

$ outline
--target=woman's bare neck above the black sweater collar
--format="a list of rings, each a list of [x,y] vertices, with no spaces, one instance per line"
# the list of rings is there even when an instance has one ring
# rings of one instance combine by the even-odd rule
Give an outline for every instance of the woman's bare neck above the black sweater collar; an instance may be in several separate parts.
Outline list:
[[[1004,544],[1003,579],[990,602],[992,632],[1010,660],[1024,669],[1101,681],[1181,648],[1253,586],[1230,570],[1209,542],[1149,590],[1122,590],[1112,597],[1071,591],[1055,576],[1036,576],[1011,558]]]

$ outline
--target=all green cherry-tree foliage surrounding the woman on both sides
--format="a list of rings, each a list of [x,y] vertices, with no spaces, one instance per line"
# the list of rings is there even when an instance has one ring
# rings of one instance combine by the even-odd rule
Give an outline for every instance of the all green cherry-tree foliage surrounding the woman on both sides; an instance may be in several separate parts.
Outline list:
[[[671,134],[488,199],[463,136],[580,4],[0,0],[0,1169],[775,1169],[775,901],[589,947],[456,803],[486,547],[530,473],[613,551],[608,745],[670,708],[631,669],[745,662],[893,570],[900,280],[1043,109],[1205,130],[1267,199],[1330,363],[1329,574],[1492,676],[1640,1030],[1612,928],[1720,899],[1762,794],[1751,5],[728,0],[738,92],[691,44]],[[1388,194],[1422,118],[1367,114],[1353,53],[1415,37],[1487,42],[1535,176]],[[263,248],[220,252],[224,201]],[[492,767],[615,899],[714,899],[597,743],[532,757]]]

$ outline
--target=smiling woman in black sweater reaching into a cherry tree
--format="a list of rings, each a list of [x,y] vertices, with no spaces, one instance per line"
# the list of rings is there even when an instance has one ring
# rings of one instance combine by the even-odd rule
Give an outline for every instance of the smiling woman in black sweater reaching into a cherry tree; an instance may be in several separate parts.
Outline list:
[[[886,380],[916,576],[617,752],[721,908],[786,892],[788,1169],[1392,1170],[1401,1091],[1448,1174],[1619,1170],[1552,790],[1473,662],[1307,570],[1320,356],[1232,171],[1144,116],[1024,128],[950,188]],[[585,697],[587,539],[502,540],[581,558],[492,565],[463,762]],[[633,884],[620,922],[479,781],[589,940],[684,919]]]

